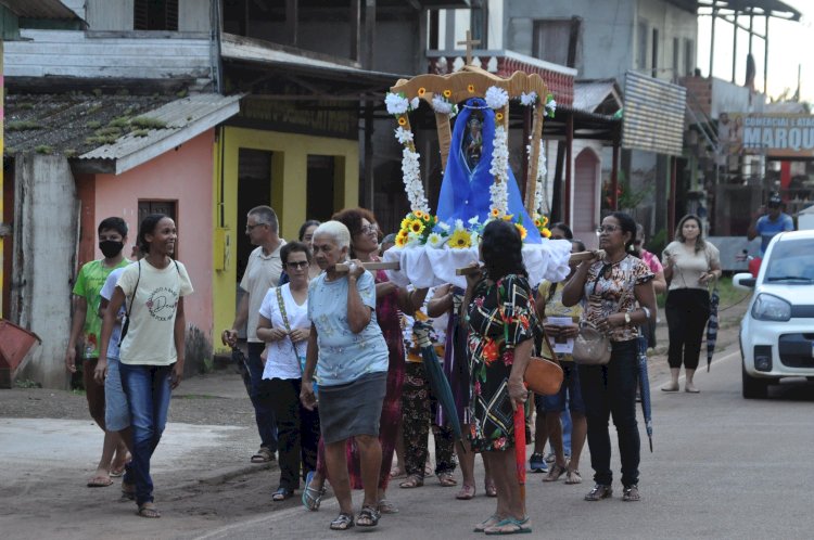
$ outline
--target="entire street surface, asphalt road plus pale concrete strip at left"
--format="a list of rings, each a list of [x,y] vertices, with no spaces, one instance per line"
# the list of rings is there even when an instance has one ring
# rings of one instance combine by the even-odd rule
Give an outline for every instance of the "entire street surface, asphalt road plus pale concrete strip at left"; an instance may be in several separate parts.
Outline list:
[[[611,500],[584,502],[592,487],[589,455],[584,455],[582,485],[544,484],[543,475],[527,475],[532,537],[811,538],[814,383],[790,381],[774,387],[768,400],[745,400],[737,345],[716,355],[710,373],[697,374],[698,395],[660,391],[665,376],[661,369],[651,370],[654,452],[643,438],[643,500],[622,502],[616,481]],[[188,396],[208,396],[200,401],[204,407],[245,400],[234,375],[185,385]],[[641,425],[640,430],[644,435]],[[269,471],[247,463],[254,435],[249,422],[170,422],[153,468],[164,515],[142,519],[131,502],[117,502],[116,486],[84,486],[99,443],[90,420],[0,419],[0,538],[302,539],[361,533],[359,528],[328,530],[338,513],[333,499],[316,513],[295,500],[271,503],[278,473],[274,465]],[[619,475],[615,441],[613,447]],[[457,488],[442,488],[435,478],[411,490],[393,483],[389,498],[400,513],[384,516],[370,533],[389,539],[476,536],[472,526],[491,515],[495,504],[483,494],[480,459],[476,475],[479,493],[468,502],[455,500]],[[360,496],[355,494],[357,507]]]

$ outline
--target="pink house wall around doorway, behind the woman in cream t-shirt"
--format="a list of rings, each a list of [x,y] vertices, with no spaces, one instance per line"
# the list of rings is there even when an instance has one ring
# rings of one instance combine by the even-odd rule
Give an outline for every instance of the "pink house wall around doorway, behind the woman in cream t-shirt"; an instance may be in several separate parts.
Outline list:
[[[129,227],[130,245],[138,234],[139,201],[175,201],[178,260],[185,263],[195,292],[183,300],[187,324],[212,339],[213,156],[215,134],[208,130],[191,141],[120,176],[98,175],[96,216],[120,216]],[[102,254],[94,247],[96,258]]]

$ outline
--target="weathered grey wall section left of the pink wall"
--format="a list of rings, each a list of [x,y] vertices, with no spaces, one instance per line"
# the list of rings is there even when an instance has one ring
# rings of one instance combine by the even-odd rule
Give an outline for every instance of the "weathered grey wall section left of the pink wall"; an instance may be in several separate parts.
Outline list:
[[[14,159],[14,257],[11,320],[42,338],[22,378],[67,388],[65,348],[77,246],[77,200],[67,159]]]

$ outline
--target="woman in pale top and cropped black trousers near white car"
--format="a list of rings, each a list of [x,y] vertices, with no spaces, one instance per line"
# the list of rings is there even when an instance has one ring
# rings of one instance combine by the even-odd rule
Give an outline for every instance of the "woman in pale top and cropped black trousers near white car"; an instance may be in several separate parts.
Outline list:
[[[675,240],[664,248],[664,278],[670,283],[664,312],[670,330],[671,381],[661,389],[678,391],[678,374],[684,362],[687,375],[684,390],[697,394],[692,383],[701,353],[701,338],[710,318],[711,282],[721,278],[721,256],[717,247],[704,242],[701,220],[691,214],[684,216],[675,228]]]

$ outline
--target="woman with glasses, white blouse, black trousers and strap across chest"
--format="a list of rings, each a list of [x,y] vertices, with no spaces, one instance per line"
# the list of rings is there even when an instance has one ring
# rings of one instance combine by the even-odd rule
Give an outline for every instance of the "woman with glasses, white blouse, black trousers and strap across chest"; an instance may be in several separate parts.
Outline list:
[[[306,244],[290,242],[280,249],[280,259],[289,282],[268,290],[257,323],[257,337],[266,342],[259,397],[274,408],[280,452],[280,485],[272,501],[284,501],[300,488],[301,462],[303,478],[317,468],[319,445],[319,412],[309,411],[300,402],[310,335],[311,255]]]

